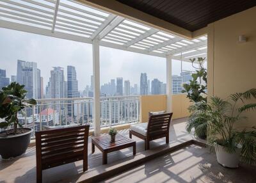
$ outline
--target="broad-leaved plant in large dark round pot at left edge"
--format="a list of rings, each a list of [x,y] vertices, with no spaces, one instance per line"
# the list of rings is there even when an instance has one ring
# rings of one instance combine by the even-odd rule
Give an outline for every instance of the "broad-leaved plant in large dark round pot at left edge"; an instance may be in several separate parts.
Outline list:
[[[24,114],[26,107],[36,104],[35,99],[26,99],[24,85],[11,83],[0,92],[0,155],[11,159],[24,154],[30,143],[32,129],[23,128],[18,113]],[[18,128],[19,126],[19,128]]]

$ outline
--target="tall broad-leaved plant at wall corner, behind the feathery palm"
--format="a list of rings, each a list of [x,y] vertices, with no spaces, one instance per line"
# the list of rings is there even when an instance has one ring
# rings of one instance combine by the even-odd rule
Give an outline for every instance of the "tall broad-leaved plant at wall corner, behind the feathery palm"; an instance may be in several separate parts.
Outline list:
[[[207,70],[204,68],[205,58],[190,59],[192,66],[196,69],[196,72],[191,74],[192,79],[189,83],[183,84],[184,90],[182,93],[187,93],[187,98],[193,104],[188,108],[191,112],[188,121],[186,123],[186,130],[191,132],[195,129],[194,135],[198,138],[206,139],[207,136],[207,122],[205,118],[197,117],[198,111],[193,105],[195,102],[207,100]],[[198,67],[195,67],[194,63],[197,61]]]

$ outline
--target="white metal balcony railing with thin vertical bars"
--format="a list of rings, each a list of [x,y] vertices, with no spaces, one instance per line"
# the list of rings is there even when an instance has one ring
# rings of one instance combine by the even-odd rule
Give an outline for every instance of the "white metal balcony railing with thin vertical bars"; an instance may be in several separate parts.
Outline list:
[[[90,124],[93,129],[93,98],[38,99],[36,106],[19,114],[23,127],[42,131],[56,126]],[[100,97],[100,127],[138,123],[139,96]]]

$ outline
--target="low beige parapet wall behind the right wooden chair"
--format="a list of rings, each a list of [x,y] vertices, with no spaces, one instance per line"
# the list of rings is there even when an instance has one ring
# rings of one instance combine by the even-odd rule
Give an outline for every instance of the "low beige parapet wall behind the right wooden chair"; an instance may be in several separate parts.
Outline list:
[[[148,112],[166,111],[166,99],[166,95],[140,96],[140,122],[148,122]],[[188,116],[189,105],[186,95],[172,95],[173,119]]]

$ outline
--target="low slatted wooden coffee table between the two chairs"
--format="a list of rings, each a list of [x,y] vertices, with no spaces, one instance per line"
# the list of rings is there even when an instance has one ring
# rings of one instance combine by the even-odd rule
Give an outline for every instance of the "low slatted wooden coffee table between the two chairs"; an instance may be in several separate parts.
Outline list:
[[[127,147],[133,147],[133,155],[136,154],[136,142],[121,134],[116,134],[116,141],[110,143],[110,136],[104,135],[92,137],[92,154],[95,152],[95,145],[102,152],[102,164],[108,163],[108,153],[121,150]]]

